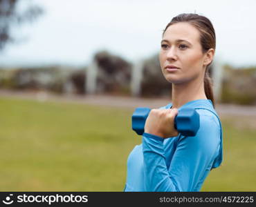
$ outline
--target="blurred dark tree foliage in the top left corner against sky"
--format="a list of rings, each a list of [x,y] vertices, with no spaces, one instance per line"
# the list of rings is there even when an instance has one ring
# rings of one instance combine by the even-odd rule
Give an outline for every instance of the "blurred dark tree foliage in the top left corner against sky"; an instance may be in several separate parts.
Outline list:
[[[24,3],[26,8],[21,11],[19,6]],[[34,21],[43,13],[42,8],[28,0],[0,0],[0,52],[8,43],[15,42],[11,29],[21,23]]]

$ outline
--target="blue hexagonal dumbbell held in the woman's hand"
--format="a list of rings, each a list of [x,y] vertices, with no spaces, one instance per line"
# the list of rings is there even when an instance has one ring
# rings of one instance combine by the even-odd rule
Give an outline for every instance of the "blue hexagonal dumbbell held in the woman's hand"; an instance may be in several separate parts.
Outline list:
[[[131,117],[132,129],[138,135],[143,135],[145,121],[149,115],[150,108],[136,108]],[[194,136],[199,130],[199,114],[194,108],[183,108],[174,118],[174,128],[183,136]]]

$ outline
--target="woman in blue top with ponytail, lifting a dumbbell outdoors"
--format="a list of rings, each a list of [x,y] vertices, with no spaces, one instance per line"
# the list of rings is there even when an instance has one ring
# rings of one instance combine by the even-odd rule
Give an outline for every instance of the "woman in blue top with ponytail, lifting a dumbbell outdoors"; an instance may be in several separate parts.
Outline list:
[[[199,14],[179,14],[167,24],[159,60],[172,83],[172,103],[149,113],[142,144],[127,160],[125,191],[199,191],[210,170],[221,164],[221,121],[208,76],[215,42],[212,23]],[[186,107],[200,115],[194,137],[174,128],[174,117]]]

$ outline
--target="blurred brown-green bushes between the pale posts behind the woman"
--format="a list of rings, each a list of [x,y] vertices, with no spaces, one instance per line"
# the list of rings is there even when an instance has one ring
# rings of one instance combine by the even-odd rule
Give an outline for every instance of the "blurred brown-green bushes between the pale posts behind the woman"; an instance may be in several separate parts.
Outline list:
[[[131,95],[133,64],[107,51],[94,55],[98,65],[96,94]],[[86,94],[86,70],[52,66],[45,68],[14,68],[0,70],[0,88],[14,90],[48,90],[57,93]],[[143,61],[140,81],[141,97],[171,97],[172,84],[161,72],[158,55]],[[223,66],[222,103],[256,104],[256,67]]]

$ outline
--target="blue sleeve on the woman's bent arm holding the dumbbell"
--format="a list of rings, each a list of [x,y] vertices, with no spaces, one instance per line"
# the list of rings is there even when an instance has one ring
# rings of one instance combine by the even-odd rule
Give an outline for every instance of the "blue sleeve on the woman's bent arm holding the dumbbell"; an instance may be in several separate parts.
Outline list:
[[[146,191],[193,191],[206,168],[216,157],[219,143],[219,125],[212,116],[202,114],[196,136],[179,137],[170,167],[167,168],[163,138],[144,133],[143,164]]]

